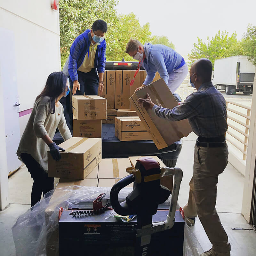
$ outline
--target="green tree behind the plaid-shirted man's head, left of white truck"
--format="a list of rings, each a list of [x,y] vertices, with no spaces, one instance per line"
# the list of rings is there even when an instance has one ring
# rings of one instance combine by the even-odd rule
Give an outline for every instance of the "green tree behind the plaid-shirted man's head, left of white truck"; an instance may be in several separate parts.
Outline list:
[[[207,37],[207,44],[199,37],[197,37],[197,40],[198,42],[194,44],[194,49],[188,54],[189,60],[192,62],[200,58],[207,58],[214,65],[216,59],[244,54],[243,44],[237,41],[236,32],[228,36],[227,31],[220,32],[219,30],[212,37],[212,40],[210,40],[209,36]]]

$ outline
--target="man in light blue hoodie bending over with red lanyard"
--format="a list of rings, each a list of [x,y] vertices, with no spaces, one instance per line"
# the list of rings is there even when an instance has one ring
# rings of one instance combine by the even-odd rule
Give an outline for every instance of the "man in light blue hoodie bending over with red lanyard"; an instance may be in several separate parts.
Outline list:
[[[158,71],[174,93],[188,75],[188,66],[183,57],[168,46],[150,43],[143,45],[136,39],[130,39],[125,52],[134,60],[140,60],[147,72],[144,83],[136,91],[152,83]]]

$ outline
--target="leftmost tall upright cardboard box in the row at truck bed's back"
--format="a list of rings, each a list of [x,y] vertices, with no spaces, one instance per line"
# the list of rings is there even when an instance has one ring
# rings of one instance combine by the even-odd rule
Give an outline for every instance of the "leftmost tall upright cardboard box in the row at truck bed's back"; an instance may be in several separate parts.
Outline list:
[[[115,79],[115,70],[105,70],[101,97],[107,99],[107,108],[115,108]],[[99,92],[98,95],[100,95]]]

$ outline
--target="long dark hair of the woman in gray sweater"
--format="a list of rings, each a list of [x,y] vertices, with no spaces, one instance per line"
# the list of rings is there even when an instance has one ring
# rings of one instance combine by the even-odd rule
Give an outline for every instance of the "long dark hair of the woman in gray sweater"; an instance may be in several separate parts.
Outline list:
[[[51,114],[55,113],[55,101],[60,96],[60,94],[66,89],[67,77],[63,72],[53,72],[47,78],[46,84],[43,91],[36,97],[38,100],[40,97],[48,96]]]

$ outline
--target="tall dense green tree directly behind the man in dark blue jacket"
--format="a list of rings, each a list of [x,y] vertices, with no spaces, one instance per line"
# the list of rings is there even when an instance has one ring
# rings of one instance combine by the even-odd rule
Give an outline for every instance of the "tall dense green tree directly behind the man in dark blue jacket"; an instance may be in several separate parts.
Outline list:
[[[92,27],[95,20],[102,19],[108,24],[108,45],[116,43],[118,15],[117,0],[60,0],[60,54],[61,67],[69,55],[75,38]]]

